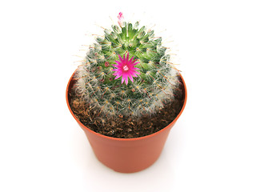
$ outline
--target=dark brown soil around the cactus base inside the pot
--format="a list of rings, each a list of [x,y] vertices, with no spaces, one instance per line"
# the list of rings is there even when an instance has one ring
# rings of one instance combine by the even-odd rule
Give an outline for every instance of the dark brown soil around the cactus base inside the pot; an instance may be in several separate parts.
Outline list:
[[[99,134],[113,138],[139,138],[154,134],[173,122],[184,103],[184,97],[178,94],[174,102],[167,103],[158,113],[144,115],[140,118],[119,115],[118,118],[105,121],[98,118],[97,110],[90,110],[89,104],[81,102],[74,92],[70,91],[69,98],[71,110],[83,125]]]

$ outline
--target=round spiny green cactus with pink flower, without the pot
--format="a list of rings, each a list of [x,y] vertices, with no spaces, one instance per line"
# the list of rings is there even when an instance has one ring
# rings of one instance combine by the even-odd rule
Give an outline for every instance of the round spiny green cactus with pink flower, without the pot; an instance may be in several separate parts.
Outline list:
[[[74,76],[74,91],[102,119],[154,114],[180,91],[178,70],[154,30],[122,22],[97,37]]]

